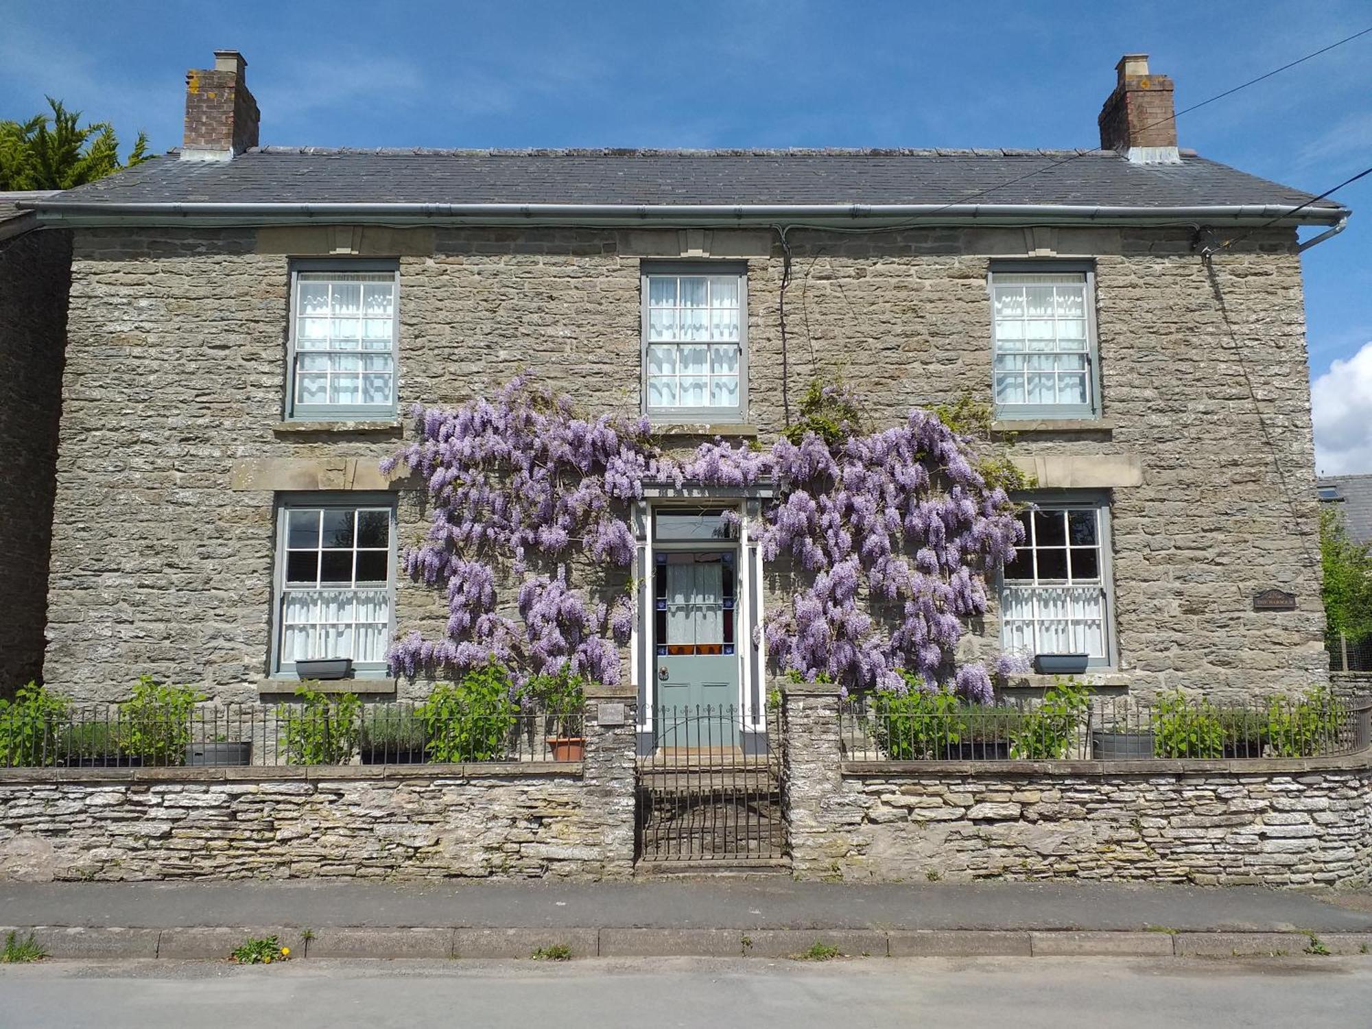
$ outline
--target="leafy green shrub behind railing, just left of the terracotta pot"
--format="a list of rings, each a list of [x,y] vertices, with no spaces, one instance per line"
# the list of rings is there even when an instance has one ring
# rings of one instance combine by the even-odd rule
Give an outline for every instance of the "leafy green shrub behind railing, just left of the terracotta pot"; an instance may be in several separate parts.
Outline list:
[[[428,733],[428,759],[440,764],[493,761],[509,753],[519,723],[509,672],[497,663],[440,682],[414,713]]]

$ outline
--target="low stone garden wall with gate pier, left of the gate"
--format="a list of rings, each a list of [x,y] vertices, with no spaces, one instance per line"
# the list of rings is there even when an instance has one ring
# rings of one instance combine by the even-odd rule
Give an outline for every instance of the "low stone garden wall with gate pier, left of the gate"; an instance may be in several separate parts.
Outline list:
[[[632,708],[597,711],[578,763],[0,768],[0,881],[624,877]]]

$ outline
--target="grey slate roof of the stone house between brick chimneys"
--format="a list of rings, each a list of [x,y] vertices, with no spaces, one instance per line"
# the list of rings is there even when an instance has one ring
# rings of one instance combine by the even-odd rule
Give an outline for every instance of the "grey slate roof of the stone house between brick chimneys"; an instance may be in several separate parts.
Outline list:
[[[1033,174],[1037,173],[1037,174]],[[1019,180],[1019,181],[1010,181]],[[1310,196],[1183,151],[324,150],[169,155],[58,198],[84,203],[1297,206]],[[1343,209],[1320,202],[1329,221]]]

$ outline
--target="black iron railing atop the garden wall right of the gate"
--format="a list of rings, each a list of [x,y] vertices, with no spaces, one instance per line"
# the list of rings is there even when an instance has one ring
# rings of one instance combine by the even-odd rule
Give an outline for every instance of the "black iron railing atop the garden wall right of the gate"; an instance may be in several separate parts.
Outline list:
[[[1367,704],[1327,690],[1220,702],[1061,697],[969,705],[948,697],[852,697],[844,755],[860,761],[1321,757],[1369,745]]]

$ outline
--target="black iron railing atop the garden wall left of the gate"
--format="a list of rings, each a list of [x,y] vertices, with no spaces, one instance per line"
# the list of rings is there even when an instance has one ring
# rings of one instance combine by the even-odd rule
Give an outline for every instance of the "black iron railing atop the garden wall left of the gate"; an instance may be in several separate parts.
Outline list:
[[[584,712],[421,702],[121,704],[0,711],[0,767],[576,761]]]

